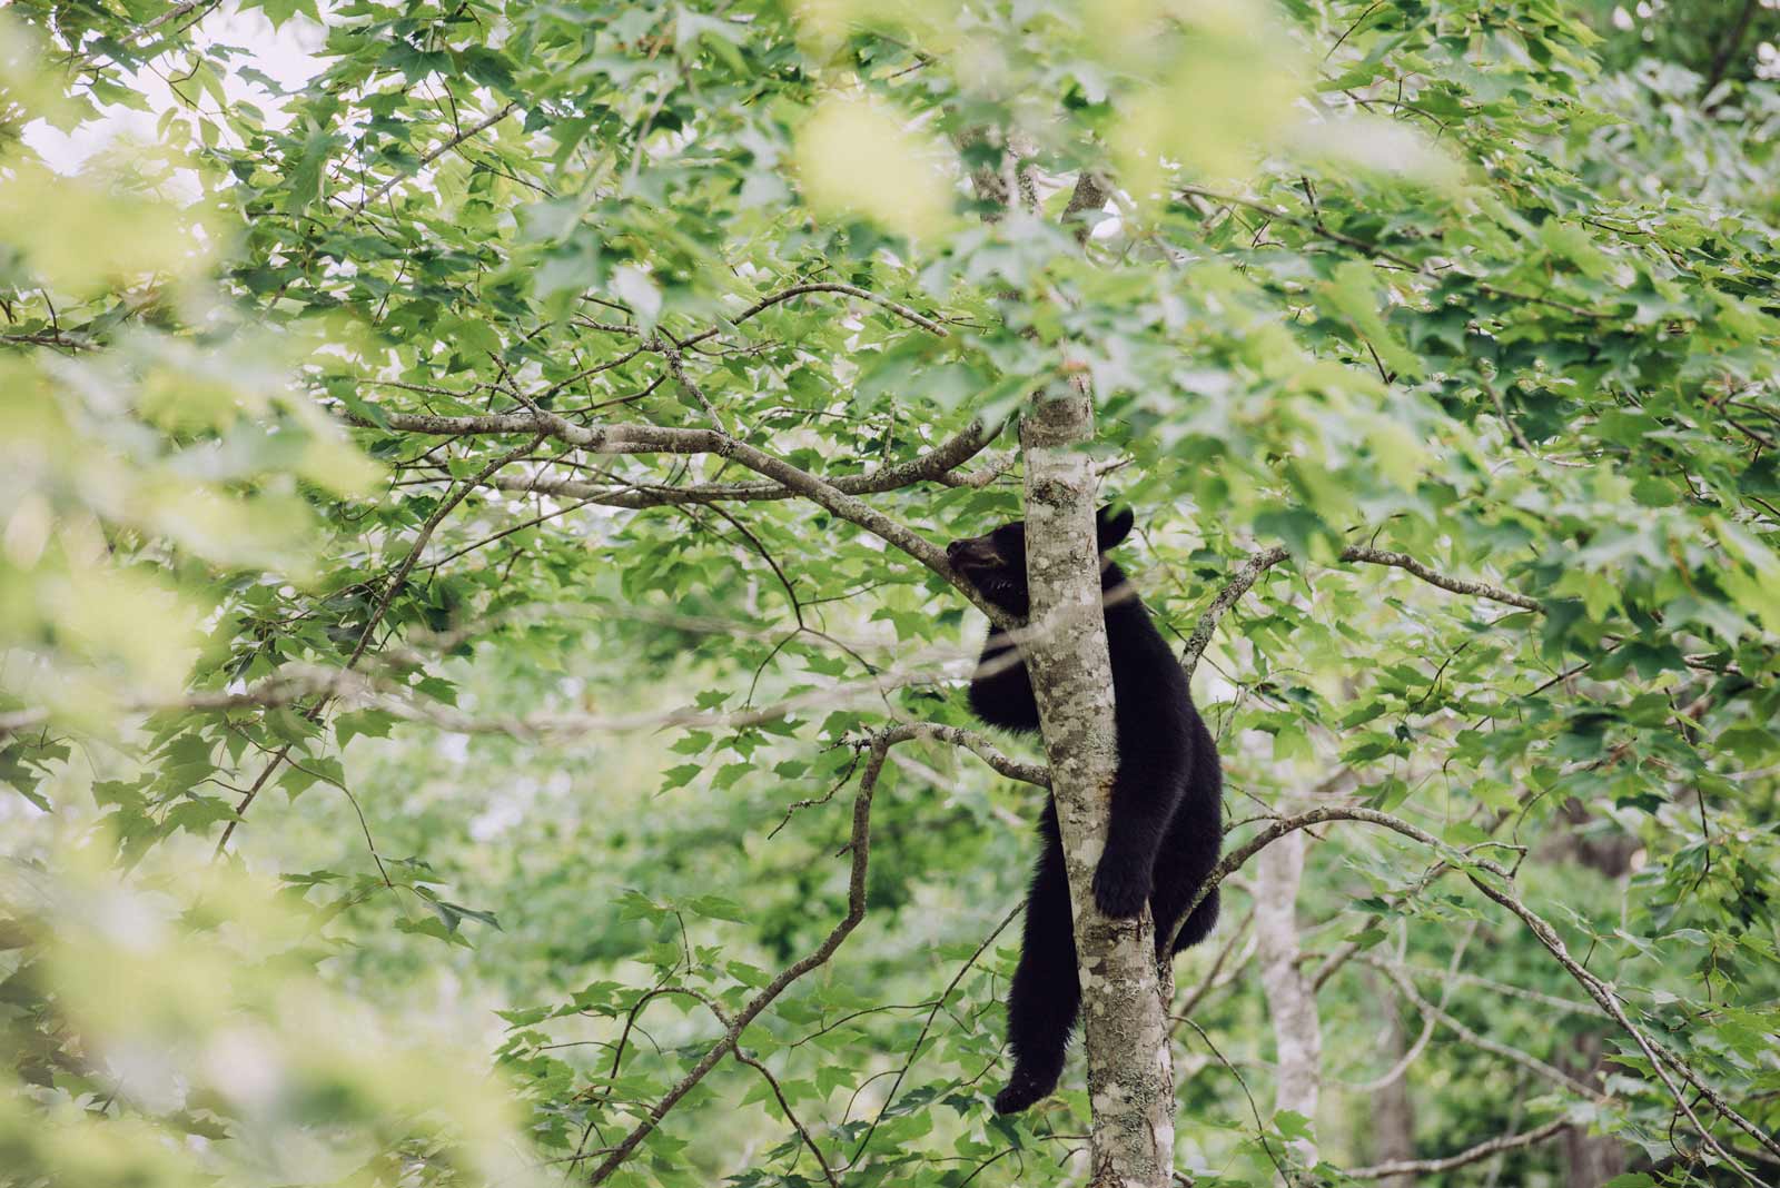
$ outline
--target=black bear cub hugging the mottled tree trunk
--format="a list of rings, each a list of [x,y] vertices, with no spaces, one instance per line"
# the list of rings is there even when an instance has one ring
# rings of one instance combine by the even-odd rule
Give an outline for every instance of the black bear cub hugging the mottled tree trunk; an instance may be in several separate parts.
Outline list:
[[[1116,918],[1136,916],[1148,902],[1161,950],[1182,909],[1218,864],[1223,777],[1180,663],[1127,585],[1125,573],[1105,558],[1105,551],[1130,534],[1130,525],[1129,509],[1114,514],[1104,507],[1096,518],[1100,590],[1112,653],[1118,775],[1093,895],[1100,911]],[[1024,521],[956,541],[945,555],[988,601],[1022,619],[1031,612]],[[990,631],[970,681],[970,710],[990,726],[1036,733],[1038,704],[1025,663],[1007,663],[1015,647],[1007,635]],[[995,1096],[997,1113],[1018,1113],[1057,1087],[1082,998],[1056,800],[1047,800],[1038,831],[1043,852],[1025,902],[1025,948],[1007,994],[1015,1065],[1007,1087]],[[1180,928],[1175,951],[1203,941],[1216,921],[1214,887]]]

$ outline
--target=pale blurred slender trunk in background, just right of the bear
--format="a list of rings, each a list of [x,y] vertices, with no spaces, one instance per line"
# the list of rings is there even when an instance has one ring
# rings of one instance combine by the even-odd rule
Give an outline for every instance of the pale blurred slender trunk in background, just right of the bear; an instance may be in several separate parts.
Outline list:
[[[1273,1110],[1317,1117],[1323,1085],[1323,1024],[1317,996],[1298,960],[1298,884],[1305,875],[1305,834],[1289,832],[1255,857],[1255,939],[1260,987],[1273,1019]],[[1315,1145],[1298,1140],[1292,1151],[1315,1161]]]

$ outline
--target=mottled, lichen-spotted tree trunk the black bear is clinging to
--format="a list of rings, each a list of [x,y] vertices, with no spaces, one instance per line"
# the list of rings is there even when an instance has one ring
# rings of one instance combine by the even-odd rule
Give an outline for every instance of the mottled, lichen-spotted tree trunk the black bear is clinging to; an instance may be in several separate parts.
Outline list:
[[[1091,884],[1105,848],[1112,774],[1112,665],[1100,610],[1095,478],[1088,454],[1093,402],[1084,386],[1040,397],[1020,427],[1025,454],[1027,578],[1032,624],[1027,670],[1045,729],[1052,795],[1070,875],[1082,980],[1091,1188],[1162,1188],[1175,1163],[1175,1069],[1148,909],[1114,921]]]

